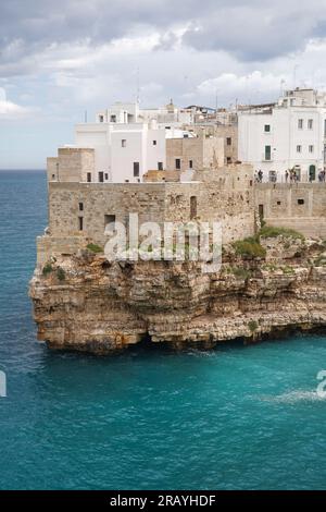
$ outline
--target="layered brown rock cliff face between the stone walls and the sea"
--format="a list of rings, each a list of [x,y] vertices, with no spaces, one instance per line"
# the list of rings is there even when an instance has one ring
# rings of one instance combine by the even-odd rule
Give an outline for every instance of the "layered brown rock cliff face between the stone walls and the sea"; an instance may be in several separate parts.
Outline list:
[[[226,248],[215,273],[202,273],[197,261],[62,256],[30,281],[38,338],[52,349],[105,354],[146,337],[176,348],[212,348],[326,326],[324,245],[281,237],[264,245],[263,259]]]

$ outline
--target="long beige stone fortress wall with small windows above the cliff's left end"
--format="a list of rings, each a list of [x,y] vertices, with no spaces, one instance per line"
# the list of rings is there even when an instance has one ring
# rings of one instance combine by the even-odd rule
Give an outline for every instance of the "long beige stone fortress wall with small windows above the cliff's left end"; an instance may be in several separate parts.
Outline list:
[[[202,181],[188,183],[49,183],[50,237],[89,240],[101,246],[106,242],[104,228],[114,219],[128,225],[129,214],[137,212],[139,223],[154,221],[221,221],[223,242],[253,234],[254,199],[252,171],[234,169],[201,171]],[[210,178],[208,178],[210,176]],[[82,221],[79,219],[83,219]],[[109,220],[108,220],[109,219]],[[82,225],[80,225],[82,222]],[[82,242],[80,242],[82,243]],[[77,244],[78,245],[78,244]],[[55,242],[51,251],[60,253]],[[66,252],[66,251],[65,251]],[[73,252],[73,248],[72,248]]]

